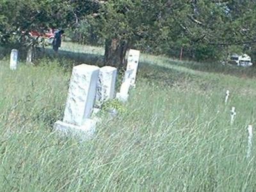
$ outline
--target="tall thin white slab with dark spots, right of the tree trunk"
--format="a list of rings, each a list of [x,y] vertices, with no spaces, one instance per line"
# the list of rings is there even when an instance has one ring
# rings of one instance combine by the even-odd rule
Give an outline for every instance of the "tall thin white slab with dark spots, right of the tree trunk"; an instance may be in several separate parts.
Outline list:
[[[135,86],[135,79],[136,74],[138,70],[138,64],[139,64],[139,58],[140,58],[140,51],[130,49],[127,59],[127,69],[126,70],[132,70],[131,74],[131,86]]]

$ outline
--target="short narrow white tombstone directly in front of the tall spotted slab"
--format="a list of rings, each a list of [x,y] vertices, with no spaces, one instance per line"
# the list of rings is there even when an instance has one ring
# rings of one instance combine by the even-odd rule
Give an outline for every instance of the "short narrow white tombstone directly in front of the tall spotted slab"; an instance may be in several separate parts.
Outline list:
[[[129,97],[129,89],[131,87],[133,70],[126,70],[124,75],[123,83],[121,84],[120,92],[116,93],[116,99],[126,102]]]

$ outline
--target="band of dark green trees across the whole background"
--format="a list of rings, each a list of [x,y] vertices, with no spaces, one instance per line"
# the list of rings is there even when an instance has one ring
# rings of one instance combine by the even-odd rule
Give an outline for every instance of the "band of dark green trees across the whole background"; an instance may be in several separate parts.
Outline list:
[[[0,0],[2,47],[27,49],[29,31],[64,29],[80,44],[105,47],[104,63],[122,67],[129,48],[196,61],[228,54],[255,59],[251,0]]]

